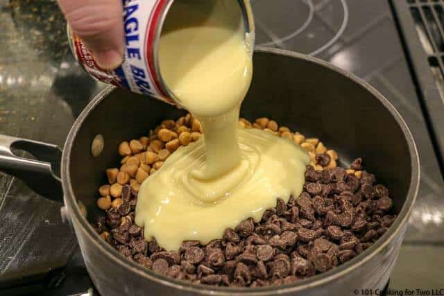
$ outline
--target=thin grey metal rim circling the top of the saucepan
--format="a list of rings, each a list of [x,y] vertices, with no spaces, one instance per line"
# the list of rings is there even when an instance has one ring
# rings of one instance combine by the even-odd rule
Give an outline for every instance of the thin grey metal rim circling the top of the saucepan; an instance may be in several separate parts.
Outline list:
[[[409,153],[411,155],[411,180],[409,186],[409,192],[407,193],[407,198],[402,206],[400,214],[398,218],[395,220],[395,223],[388,229],[386,234],[379,238],[379,240],[369,247],[367,250],[356,256],[354,259],[339,265],[339,267],[329,270],[327,272],[323,272],[321,275],[316,275],[309,279],[301,279],[300,281],[296,281],[293,284],[283,285],[283,286],[272,286],[265,288],[229,288],[229,287],[214,287],[214,286],[205,286],[200,284],[192,284],[185,281],[179,281],[177,279],[172,279],[169,277],[165,277],[162,275],[157,275],[152,270],[146,270],[135,262],[129,261],[125,259],[117,250],[115,250],[111,245],[103,241],[100,238],[99,234],[97,234],[93,227],[89,224],[87,219],[82,215],[82,211],[76,202],[76,198],[74,195],[74,190],[71,186],[71,176],[70,176],[70,158],[71,158],[71,149],[73,147],[73,143],[76,140],[76,136],[80,127],[82,126],[87,116],[89,116],[90,112],[94,110],[96,105],[98,105],[103,99],[110,94],[115,87],[107,87],[100,94],[98,94],[88,105],[85,107],[85,110],[78,116],[78,119],[74,123],[69,135],[67,137],[67,141],[65,143],[65,149],[62,154],[62,186],[65,192],[65,204],[69,209],[69,218],[74,220],[77,224],[80,224],[80,231],[83,232],[87,236],[87,238],[100,249],[101,252],[106,254],[110,260],[119,263],[122,268],[126,268],[130,270],[130,272],[135,272],[142,277],[146,277],[151,281],[156,282],[157,284],[169,286],[170,288],[176,288],[178,290],[192,292],[196,294],[207,294],[211,293],[212,295],[232,295],[233,293],[244,294],[244,295],[271,295],[273,293],[293,293],[296,291],[304,290],[306,288],[312,288],[314,286],[320,286],[323,284],[327,284],[330,281],[334,281],[339,277],[343,277],[347,275],[349,272],[356,270],[359,266],[366,263],[368,260],[371,260],[375,254],[384,250],[384,248],[393,241],[395,236],[398,236],[399,232],[402,229],[402,226],[407,223],[409,218],[409,214],[411,213],[411,209],[413,206],[413,202],[416,200],[416,196],[418,195],[418,187],[419,187],[419,178],[420,178],[420,165],[419,165],[419,157],[418,150],[416,149],[415,141],[411,135],[407,124],[404,119],[400,116],[398,111],[391,105],[390,102],[382,94],[377,92],[375,88],[370,86],[364,80],[357,78],[357,76],[352,75],[338,67],[333,66],[323,60],[318,58],[313,58],[308,55],[302,55],[300,53],[293,53],[291,51],[284,51],[282,49],[271,49],[271,48],[260,48],[255,50],[256,53],[266,53],[270,55],[284,55],[287,58],[296,58],[299,60],[305,60],[307,62],[311,62],[322,67],[329,69],[330,71],[335,71],[336,73],[341,74],[345,79],[350,79],[353,82],[357,83],[361,87],[364,87],[373,97],[379,100],[386,110],[391,113],[395,121],[398,122],[402,132],[404,133],[404,137],[407,140],[407,145],[409,146]]]

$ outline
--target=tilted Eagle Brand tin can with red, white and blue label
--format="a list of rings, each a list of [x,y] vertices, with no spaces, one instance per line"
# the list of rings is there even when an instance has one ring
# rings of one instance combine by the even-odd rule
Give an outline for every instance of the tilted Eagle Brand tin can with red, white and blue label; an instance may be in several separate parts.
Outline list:
[[[241,8],[246,45],[253,54],[255,23],[250,0],[232,1]],[[112,71],[99,67],[83,41],[68,25],[69,46],[74,57],[89,75],[101,82],[177,105],[174,94],[162,79],[157,50],[164,20],[174,0],[122,2],[126,48],[121,66]]]

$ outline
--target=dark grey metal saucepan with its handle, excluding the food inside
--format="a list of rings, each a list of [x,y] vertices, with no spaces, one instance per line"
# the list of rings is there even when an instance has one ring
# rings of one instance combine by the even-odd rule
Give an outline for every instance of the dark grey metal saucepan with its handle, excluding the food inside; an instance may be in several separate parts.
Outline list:
[[[250,120],[267,116],[323,139],[339,152],[341,164],[364,157],[367,170],[391,192],[399,213],[393,226],[355,259],[288,286],[215,288],[146,270],[121,256],[89,224],[103,213],[96,206],[97,189],[105,183],[105,169],[119,161],[117,146],[121,141],[147,134],[163,119],[182,116],[185,110],[108,87],[74,123],[61,162],[56,146],[0,137],[0,169],[21,177],[49,198],[56,198],[58,192],[64,196],[62,212],[74,227],[86,268],[101,295],[342,296],[386,286],[418,193],[418,152],[406,123],[373,87],[327,62],[278,49],[259,49],[254,67],[253,84],[241,115]],[[35,158],[17,157],[13,149],[26,150]]]

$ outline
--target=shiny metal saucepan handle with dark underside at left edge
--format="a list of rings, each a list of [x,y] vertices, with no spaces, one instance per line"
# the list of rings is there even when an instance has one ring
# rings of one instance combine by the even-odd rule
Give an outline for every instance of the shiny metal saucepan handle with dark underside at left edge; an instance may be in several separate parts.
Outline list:
[[[32,157],[25,156],[25,153],[19,156],[15,150],[25,151]],[[63,200],[61,159],[62,150],[56,145],[0,134],[0,171],[18,177],[33,191],[50,200]]]

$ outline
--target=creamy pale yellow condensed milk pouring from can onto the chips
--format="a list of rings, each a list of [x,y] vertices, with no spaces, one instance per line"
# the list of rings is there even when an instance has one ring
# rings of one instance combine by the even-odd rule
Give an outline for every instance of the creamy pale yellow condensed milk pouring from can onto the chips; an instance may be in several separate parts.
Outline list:
[[[145,180],[135,222],[147,240],[178,250],[300,195],[309,157],[292,141],[238,128],[253,62],[237,1],[174,1],[159,42],[162,79],[205,136]]]

